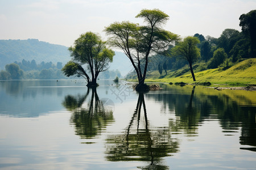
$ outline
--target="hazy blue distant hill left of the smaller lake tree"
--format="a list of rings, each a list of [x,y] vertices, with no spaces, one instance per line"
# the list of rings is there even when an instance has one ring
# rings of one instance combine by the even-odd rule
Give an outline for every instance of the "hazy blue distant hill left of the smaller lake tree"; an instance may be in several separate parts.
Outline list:
[[[62,62],[63,65],[70,59],[68,47],[63,45],[49,44],[49,42],[37,39],[28,40],[0,40],[0,70],[6,64],[14,61],[35,59],[36,63]]]

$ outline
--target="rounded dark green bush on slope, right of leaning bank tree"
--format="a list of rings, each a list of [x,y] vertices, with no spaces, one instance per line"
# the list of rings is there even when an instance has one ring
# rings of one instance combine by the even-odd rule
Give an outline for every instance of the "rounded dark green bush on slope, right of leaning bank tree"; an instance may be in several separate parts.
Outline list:
[[[208,68],[217,68],[225,61],[226,58],[228,58],[228,55],[225,53],[225,50],[223,48],[218,48],[216,51],[214,51],[213,58],[210,59]]]

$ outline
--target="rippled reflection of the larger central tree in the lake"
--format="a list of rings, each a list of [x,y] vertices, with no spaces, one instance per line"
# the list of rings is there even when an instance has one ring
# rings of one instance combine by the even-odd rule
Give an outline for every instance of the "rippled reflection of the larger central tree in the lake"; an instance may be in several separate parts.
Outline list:
[[[144,115],[141,114],[142,105]],[[144,161],[149,163],[145,167],[138,167],[141,169],[169,169],[167,165],[164,165],[162,158],[171,156],[171,153],[176,153],[179,148],[179,142],[171,137],[169,128],[149,125],[144,94],[140,93],[136,109],[125,133],[109,135],[106,139],[106,159],[113,162]]]

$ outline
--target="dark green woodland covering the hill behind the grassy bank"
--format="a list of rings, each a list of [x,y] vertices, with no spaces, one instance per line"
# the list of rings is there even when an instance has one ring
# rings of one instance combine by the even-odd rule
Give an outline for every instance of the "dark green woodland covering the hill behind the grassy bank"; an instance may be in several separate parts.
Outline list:
[[[189,58],[191,56],[188,55],[189,48],[185,46],[189,43],[185,43],[185,39],[184,41],[176,42],[176,46],[169,46],[169,53],[164,53],[164,55],[172,56],[171,58],[166,58],[166,56],[160,54],[151,55],[148,57],[148,61],[150,61],[148,63],[148,70],[150,72],[148,73],[149,76],[147,78],[150,78],[150,80],[158,79],[163,81],[163,79],[159,79],[158,73],[161,72],[159,63],[166,63],[165,66],[162,66],[162,69],[165,67],[166,69],[164,70],[168,73],[164,76],[165,79],[187,74],[189,68],[185,65],[185,60],[189,62],[191,68],[192,63],[195,63],[193,64],[193,69],[191,69],[192,74],[193,70],[199,72],[217,67],[222,67],[221,70],[226,70],[245,58],[255,57],[256,55],[252,54],[255,51],[255,46],[253,46],[253,44],[256,42],[256,38],[254,37],[256,35],[255,15],[256,10],[241,15],[240,26],[242,27],[242,32],[228,28],[222,32],[218,39],[211,36],[204,37],[203,35],[196,33],[194,38],[197,37],[200,39],[200,44],[197,41],[195,46],[200,48],[200,50],[196,49],[197,52],[194,52],[196,54],[195,56],[197,56],[195,58]],[[252,39],[252,37],[254,37],[254,39]],[[183,51],[177,50],[182,49],[180,46],[184,47]],[[201,60],[197,60],[199,51]],[[184,60],[178,60],[180,58],[183,58]],[[195,69],[196,66],[197,68]],[[127,78],[134,78],[134,74],[136,73],[129,74]],[[191,78],[191,76],[189,77]]]

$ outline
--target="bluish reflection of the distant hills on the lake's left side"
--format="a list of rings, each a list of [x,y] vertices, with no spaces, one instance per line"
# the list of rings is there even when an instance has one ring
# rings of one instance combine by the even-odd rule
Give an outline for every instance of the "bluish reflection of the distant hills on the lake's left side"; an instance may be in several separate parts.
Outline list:
[[[111,80],[101,80],[100,97],[118,101],[109,90]],[[23,80],[0,81],[0,114],[16,117],[38,117],[63,109],[61,101],[66,95],[83,95],[87,91],[83,80]],[[127,96],[127,100],[131,95]]]

